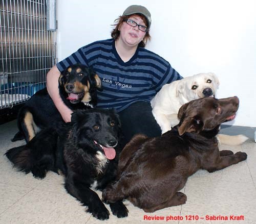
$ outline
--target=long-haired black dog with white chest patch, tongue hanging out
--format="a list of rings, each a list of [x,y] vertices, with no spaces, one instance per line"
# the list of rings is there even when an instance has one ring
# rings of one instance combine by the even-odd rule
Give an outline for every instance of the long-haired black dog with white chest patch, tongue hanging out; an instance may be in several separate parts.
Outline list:
[[[91,188],[103,190],[116,176],[119,119],[103,109],[77,110],[71,119],[60,129],[41,130],[27,145],[11,148],[5,155],[14,167],[31,171],[36,178],[44,178],[48,170],[61,171],[66,190],[94,217],[108,219],[109,211]],[[110,207],[117,217],[127,216],[122,201]]]

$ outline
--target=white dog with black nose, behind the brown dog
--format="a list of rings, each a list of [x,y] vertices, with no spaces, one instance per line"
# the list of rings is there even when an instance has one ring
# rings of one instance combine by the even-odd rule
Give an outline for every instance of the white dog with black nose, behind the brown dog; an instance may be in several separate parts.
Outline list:
[[[183,104],[193,99],[214,96],[220,85],[214,73],[199,73],[165,84],[151,101],[152,113],[159,124],[162,134],[178,125],[178,112]],[[246,141],[244,135],[218,135],[219,142],[237,145]]]

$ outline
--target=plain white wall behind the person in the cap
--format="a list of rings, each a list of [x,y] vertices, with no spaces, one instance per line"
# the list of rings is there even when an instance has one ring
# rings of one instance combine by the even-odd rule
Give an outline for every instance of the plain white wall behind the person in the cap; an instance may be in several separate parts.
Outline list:
[[[256,127],[254,0],[57,0],[58,60],[83,45],[110,38],[110,25],[133,4],[152,14],[147,48],[183,77],[215,72],[220,80],[217,97],[240,98],[236,119],[226,124]]]

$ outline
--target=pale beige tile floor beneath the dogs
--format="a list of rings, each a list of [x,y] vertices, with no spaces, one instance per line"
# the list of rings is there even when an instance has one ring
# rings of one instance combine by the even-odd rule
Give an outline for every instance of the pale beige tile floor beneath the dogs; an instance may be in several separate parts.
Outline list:
[[[0,223],[102,223],[84,212],[85,208],[65,192],[61,176],[49,172],[44,180],[37,180],[31,173],[25,175],[12,168],[4,153],[24,144],[24,141],[10,141],[16,131],[15,121],[0,126]],[[111,214],[104,222],[256,223],[256,143],[222,145],[221,149],[243,151],[248,158],[215,173],[204,170],[195,173],[182,189],[187,195],[185,205],[145,213],[125,201],[129,216],[118,219]],[[145,220],[146,216],[163,220]],[[231,220],[235,216],[240,220]],[[227,217],[229,220],[210,220],[210,217]]]

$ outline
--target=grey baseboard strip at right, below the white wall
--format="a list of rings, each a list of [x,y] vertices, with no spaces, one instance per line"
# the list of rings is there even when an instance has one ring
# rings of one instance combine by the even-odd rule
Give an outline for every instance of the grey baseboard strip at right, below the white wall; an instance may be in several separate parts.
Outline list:
[[[226,135],[245,135],[249,138],[247,141],[254,142],[255,131],[256,127],[221,125],[220,133]]]

